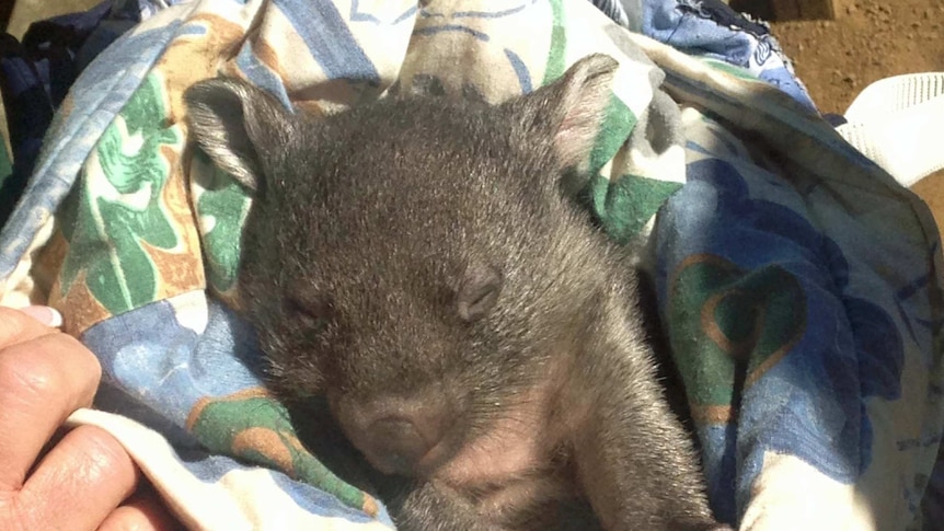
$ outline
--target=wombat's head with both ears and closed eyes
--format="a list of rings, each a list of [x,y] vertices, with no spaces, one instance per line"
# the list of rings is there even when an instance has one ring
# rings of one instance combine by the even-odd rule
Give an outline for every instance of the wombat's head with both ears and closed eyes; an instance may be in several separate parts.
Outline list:
[[[191,132],[253,194],[240,290],[274,389],[325,394],[375,466],[422,474],[552,372],[601,259],[561,180],[588,159],[615,68],[590,56],[494,107],[329,117],[240,81],[191,88]]]

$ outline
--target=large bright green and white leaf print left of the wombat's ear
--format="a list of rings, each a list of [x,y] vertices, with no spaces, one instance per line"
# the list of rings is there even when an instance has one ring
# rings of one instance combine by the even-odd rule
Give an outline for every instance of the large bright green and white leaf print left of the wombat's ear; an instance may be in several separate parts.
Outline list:
[[[62,206],[70,251],[61,290],[84,272],[89,290],[112,314],[157,298],[158,269],[146,244],[172,250],[182,241],[161,197],[170,173],[161,150],[180,149],[183,140],[166,115],[163,88],[151,73],[105,129]]]

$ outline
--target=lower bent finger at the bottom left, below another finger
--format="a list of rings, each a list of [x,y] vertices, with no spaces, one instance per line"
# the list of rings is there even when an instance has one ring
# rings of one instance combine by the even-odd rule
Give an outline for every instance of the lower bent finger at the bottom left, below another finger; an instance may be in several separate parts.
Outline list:
[[[43,458],[15,498],[23,529],[95,529],[130,496],[140,472],[107,431],[79,426]]]

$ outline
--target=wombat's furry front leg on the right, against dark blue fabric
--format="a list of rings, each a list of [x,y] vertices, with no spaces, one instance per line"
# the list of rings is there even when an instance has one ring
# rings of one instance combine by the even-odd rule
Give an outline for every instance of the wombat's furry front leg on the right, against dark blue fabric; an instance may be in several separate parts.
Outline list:
[[[724,530],[707,506],[691,442],[655,379],[631,296],[614,289],[587,330],[568,388],[574,462],[609,531]]]

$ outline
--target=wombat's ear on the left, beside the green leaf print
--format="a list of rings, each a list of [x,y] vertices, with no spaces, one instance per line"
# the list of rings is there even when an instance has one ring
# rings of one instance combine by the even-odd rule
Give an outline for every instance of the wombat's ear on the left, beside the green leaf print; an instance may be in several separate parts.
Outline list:
[[[200,81],[184,92],[187,125],[212,161],[252,192],[263,187],[262,160],[291,135],[289,112],[265,91],[235,79]]]

